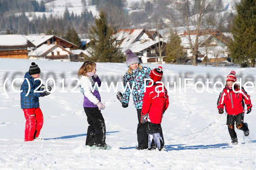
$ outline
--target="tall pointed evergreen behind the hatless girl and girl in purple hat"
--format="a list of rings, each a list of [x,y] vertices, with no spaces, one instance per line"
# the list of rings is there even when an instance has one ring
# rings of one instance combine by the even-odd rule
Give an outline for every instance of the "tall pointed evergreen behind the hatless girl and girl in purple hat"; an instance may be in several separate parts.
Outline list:
[[[89,31],[91,60],[95,62],[122,62],[123,55],[116,47],[113,30],[108,26],[103,10],[95,19],[95,26]]]

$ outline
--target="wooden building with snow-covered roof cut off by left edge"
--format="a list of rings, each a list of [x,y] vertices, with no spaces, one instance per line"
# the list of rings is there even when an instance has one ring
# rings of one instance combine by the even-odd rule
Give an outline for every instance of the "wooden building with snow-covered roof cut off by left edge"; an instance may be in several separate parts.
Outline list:
[[[0,35],[0,58],[28,59],[31,48],[35,45],[23,35]]]

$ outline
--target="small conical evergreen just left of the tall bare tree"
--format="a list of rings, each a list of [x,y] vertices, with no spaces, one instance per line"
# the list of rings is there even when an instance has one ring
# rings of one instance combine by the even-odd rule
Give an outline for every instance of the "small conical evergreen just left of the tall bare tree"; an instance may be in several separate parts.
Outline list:
[[[185,53],[181,46],[180,36],[177,31],[171,30],[168,43],[166,45],[166,62],[185,63]]]

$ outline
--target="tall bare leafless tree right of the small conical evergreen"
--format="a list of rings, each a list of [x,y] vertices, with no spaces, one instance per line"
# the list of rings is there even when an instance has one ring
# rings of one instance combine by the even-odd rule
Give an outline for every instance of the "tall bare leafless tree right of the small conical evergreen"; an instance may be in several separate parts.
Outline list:
[[[214,8],[216,0],[192,0],[192,4],[189,0],[184,0],[182,3],[178,3],[178,1],[180,2],[180,0],[175,0],[175,6],[180,17],[183,18],[180,26],[184,26],[186,29],[186,37],[192,50],[193,65],[196,66],[198,47],[200,46],[199,37],[204,35],[202,30],[212,29],[216,25],[216,10]]]

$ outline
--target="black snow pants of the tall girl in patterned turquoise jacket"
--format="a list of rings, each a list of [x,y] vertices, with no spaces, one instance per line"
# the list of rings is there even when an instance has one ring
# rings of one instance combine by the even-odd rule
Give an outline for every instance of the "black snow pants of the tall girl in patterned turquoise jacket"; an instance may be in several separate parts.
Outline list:
[[[137,126],[138,147],[148,147],[148,133],[146,132],[147,124],[140,123],[141,110],[142,109],[137,109],[137,115],[138,115],[138,121],[139,121]]]

